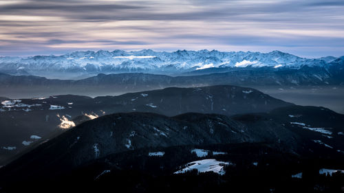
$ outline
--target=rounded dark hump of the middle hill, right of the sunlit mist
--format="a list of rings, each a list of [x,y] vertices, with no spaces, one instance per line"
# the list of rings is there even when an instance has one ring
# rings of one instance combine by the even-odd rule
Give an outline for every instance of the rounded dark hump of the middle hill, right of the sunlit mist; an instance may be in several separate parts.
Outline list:
[[[116,105],[140,112],[154,112],[163,115],[180,113],[218,113],[234,115],[238,113],[267,112],[278,106],[292,105],[255,89],[219,85],[199,88],[167,88],[142,93],[127,93],[114,97],[98,97],[98,104]]]

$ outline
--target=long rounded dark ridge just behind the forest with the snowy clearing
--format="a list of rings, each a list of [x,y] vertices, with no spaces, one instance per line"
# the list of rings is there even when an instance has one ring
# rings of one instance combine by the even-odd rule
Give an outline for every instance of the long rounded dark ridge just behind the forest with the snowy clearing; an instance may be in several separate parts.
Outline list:
[[[257,126],[246,126],[224,115],[195,113],[178,117],[151,113],[105,115],[41,144],[3,168],[1,177],[54,177],[94,159],[140,148],[268,142],[275,148],[297,151],[297,135],[268,122],[261,120]]]

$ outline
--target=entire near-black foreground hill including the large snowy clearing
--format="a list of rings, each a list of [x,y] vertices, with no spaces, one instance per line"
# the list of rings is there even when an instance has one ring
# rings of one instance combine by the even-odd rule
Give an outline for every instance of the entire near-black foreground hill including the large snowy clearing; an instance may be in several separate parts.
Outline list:
[[[314,113],[307,115],[309,110]],[[288,111],[291,116],[282,114],[283,111]],[[56,186],[57,192],[159,192],[160,189],[151,188],[177,188],[173,184],[176,180],[185,182],[179,183],[180,188],[197,184],[197,187],[220,191],[224,188],[222,185],[236,189],[240,187],[237,185],[248,183],[257,184],[259,192],[264,192],[265,188],[274,188],[277,192],[290,189],[305,191],[319,184],[316,179],[321,178],[321,167],[337,170],[344,167],[343,152],[338,152],[344,146],[336,143],[338,139],[343,141],[343,136],[338,135],[344,131],[343,127],[338,127],[343,115],[332,113],[333,128],[323,128],[323,133],[310,129],[311,125],[308,125],[320,124],[311,123],[308,117],[319,115],[320,118],[328,113],[332,112],[290,106],[271,113],[235,115],[232,118],[198,113],[175,117],[154,113],[105,115],[45,141],[1,168],[0,187],[4,192],[45,192]],[[300,123],[293,124],[289,120],[292,118]],[[305,122],[308,128],[303,128],[301,122]],[[332,140],[330,145],[327,141],[319,143],[325,138]],[[195,166],[203,168],[196,167],[196,170],[210,173],[200,176],[197,172],[183,174],[188,170],[185,167],[193,168],[193,161],[197,163]],[[211,166],[203,165],[209,161]],[[300,185],[301,180],[292,179],[292,175],[299,172],[304,173],[301,177],[308,183]],[[261,179],[250,179],[254,176]],[[283,185],[276,183],[282,179],[290,183],[288,188],[283,189]],[[332,185],[325,184],[324,187],[336,190],[338,183],[335,181],[339,179],[343,179],[343,175],[335,179],[329,177],[327,181],[332,181]],[[199,182],[195,183],[195,180]],[[237,181],[238,184],[228,181]],[[111,186],[113,184],[116,186]],[[248,189],[241,187],[241,190]],[[209,189],[193,190],[206,192]]]

